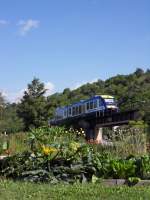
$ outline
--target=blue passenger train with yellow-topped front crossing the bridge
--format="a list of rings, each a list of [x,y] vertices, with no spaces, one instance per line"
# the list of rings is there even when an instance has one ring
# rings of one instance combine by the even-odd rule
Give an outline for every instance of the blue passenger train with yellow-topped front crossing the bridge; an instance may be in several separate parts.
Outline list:
[[[64,120],[73,117],[88,116],[96,112],[118,112],[119,108],[113,96],[95,95],[68,106],[58,107],[55,111],[55,120]]]

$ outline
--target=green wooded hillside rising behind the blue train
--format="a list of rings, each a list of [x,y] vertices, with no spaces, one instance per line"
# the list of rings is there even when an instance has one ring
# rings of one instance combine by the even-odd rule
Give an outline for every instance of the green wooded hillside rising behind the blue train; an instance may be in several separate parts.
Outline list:
[[[75,90],[66,88],[62,93],[49,96],[50,116],[53,116],[58,106],[68,105],[96,94],[113,95],[118,100],[120,110],[139,108],[141,117],[150,121],[150,70],[144,72],[140,68],[129,75],[116,75],[105,81],[99,79]]]

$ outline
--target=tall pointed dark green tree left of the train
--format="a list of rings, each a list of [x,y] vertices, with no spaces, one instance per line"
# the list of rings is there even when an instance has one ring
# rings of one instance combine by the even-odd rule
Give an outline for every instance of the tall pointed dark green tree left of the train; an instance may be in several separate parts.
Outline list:
[[[43,126],[47,123],[47,99],[44,96],[46,89],[38,78],[28,84],[27,90],[18,106],[18,114],[23,119],[25,130],[31,127]]]

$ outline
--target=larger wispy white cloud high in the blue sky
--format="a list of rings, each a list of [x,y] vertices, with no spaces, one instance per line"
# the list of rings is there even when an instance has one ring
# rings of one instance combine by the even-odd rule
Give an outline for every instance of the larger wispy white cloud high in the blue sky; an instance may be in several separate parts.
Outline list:
[[[17,25],[20,27],[19,34],[25,36],[32,29],[38,28],[40,21],[33,19],[28,19],[26,21],[20,20]]]

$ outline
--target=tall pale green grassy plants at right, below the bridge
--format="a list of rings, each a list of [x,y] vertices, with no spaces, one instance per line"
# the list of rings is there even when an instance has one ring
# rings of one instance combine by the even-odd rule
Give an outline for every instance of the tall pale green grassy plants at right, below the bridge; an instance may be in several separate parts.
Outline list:
[[[113,147],[109,152],[116,156],[127,157],[129,155],[141,156],[147,153],[147,134],[141,123],[129,124],[109,130],[107,136],[111,139]]]

